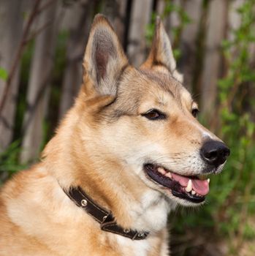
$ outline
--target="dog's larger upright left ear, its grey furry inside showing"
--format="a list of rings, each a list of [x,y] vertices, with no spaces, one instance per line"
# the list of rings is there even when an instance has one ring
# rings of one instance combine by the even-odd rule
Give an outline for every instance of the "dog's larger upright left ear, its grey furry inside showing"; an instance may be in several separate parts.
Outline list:
[[[128,65],[113,27],[103,15],[96,15],[91,26],[83,66],[99,95],[115,96],[119,75]]]

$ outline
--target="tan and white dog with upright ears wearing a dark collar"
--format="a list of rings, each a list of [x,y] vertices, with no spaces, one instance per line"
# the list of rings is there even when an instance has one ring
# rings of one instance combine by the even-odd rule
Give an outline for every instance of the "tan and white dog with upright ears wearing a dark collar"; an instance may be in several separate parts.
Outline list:
[[[41,161],[1,189],[0,255],[170,255],[167,214],[205,201],[229,148],[197,121],[159,18],[137,69],[96,15],[83,66]]]

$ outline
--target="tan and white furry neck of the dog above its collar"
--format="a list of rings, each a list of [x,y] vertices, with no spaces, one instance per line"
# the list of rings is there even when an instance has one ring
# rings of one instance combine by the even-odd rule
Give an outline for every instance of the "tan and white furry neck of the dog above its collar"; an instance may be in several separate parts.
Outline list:
[[[80,138],[72,134],[70,127],[62,126],[45,150],[45,163],[61,187],[81,187],[96,203],[111,211],[122,227],[150,233],[165,227],[170,210],[165,197],[146,187],[128,166],[105,156],[103,161],[102,152],[91,156],[84,144],[80,145]],[[61,145],[65,140],[69,143]],[[85,161],[77,155],[77,148],[82,148],[83,152],[78,153],[85,156]]]

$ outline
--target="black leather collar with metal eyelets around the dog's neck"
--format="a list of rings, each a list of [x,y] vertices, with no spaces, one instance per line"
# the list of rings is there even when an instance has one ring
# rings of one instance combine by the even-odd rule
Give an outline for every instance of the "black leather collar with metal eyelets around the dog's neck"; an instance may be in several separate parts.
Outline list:
[[[64,192],[77,206],[83,208],[84,211],[99,222],[102,230],[125,236],[132,240],[142,240],[148,236],[149,232],[124,229],[118,225],[113,214],[111,214],[110,211],[106,211],[101,206],[98,206],[80,187],[72,187],[68,192],[65,190]]]

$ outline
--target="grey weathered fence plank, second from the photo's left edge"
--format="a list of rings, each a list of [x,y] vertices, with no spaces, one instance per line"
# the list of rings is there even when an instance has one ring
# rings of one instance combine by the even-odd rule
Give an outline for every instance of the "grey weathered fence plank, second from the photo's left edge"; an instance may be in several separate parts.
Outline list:
[[[34,56],[31,63],[28,82],[27,104],[23,121],[23,141],[20,159],[28,162],[39,154],[42,143],[42,124],[47,105],[47,90],[50,86],[53,68],[54,46],[56,41],[56,12],[58,1],[52,1],[49,7],[39,15],[38,27],[48,26],[37,36]]]

